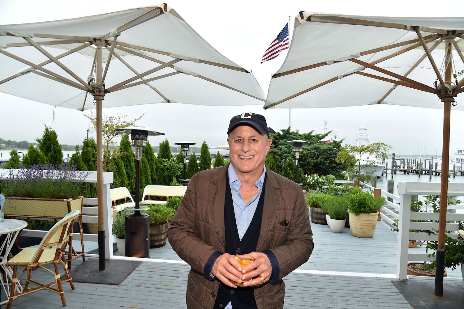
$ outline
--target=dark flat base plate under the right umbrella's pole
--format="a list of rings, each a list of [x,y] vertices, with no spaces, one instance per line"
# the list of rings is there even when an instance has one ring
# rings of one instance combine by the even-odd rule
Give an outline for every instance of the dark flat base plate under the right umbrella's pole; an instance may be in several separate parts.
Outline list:
[[[456,283],[443,283],[443,296],[435,296],[434,281],[393,281],[414,309],[464,309],[464,288]]]

